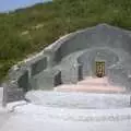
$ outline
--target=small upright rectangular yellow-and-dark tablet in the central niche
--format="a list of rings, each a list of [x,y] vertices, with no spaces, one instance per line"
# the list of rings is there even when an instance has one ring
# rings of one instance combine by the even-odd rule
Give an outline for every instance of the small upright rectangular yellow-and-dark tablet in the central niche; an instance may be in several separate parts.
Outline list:
[[[96,76],[105,76],[105,61],[96,61]]]

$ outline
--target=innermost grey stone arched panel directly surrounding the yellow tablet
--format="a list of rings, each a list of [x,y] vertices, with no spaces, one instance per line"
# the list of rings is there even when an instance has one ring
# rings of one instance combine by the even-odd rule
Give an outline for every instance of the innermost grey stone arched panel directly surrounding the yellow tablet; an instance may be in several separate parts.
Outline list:
[[[78,58],[78,62],[83,66],[83,75],[95,75],[95,61],[105,61],[106,71],[108,67],[119,61],[117,52],[110,48],[93,48]],[[106,72],[107,75],[107,72]]]

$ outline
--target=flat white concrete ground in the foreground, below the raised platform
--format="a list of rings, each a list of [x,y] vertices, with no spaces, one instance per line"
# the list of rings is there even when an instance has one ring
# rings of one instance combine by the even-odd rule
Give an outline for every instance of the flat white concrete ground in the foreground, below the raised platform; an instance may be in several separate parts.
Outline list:
[[[131,131],[131,109],[83,110],[26,105],[0,131]]]

